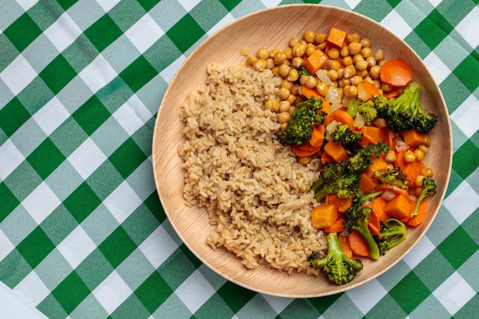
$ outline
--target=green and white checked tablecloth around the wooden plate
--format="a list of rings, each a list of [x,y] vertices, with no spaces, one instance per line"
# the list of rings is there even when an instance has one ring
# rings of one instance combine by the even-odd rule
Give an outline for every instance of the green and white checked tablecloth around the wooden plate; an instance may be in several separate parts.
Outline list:
[[[411,253],[345,293],[291,299],[232,284],[188,251],[151,164],[155,115],[185,58],[228,22],[290,2],[0,0],[0,280],[52,319],[478,318],[478,2],[321,1],[421,56],[455,153]]]

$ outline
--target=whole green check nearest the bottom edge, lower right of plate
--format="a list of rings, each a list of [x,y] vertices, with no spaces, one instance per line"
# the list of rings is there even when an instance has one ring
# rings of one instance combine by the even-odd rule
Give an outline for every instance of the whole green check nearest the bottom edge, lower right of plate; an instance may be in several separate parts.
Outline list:
[[[394,298],[404,312],[409,314],[431,295],[431,291],[424,285],[421,279],[411,271],[389,291],[389,295]]]

